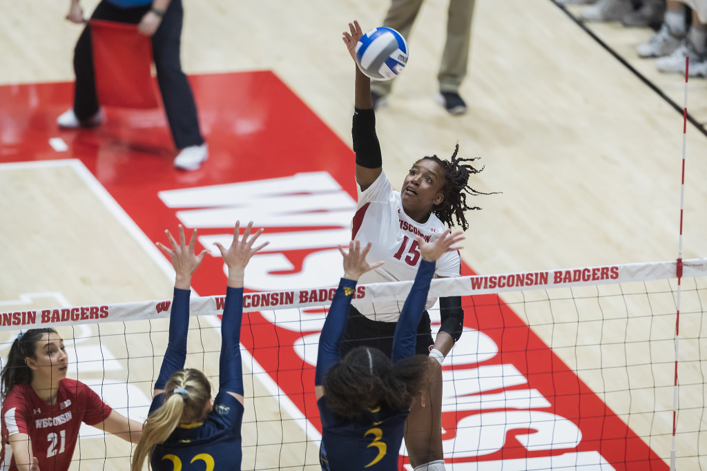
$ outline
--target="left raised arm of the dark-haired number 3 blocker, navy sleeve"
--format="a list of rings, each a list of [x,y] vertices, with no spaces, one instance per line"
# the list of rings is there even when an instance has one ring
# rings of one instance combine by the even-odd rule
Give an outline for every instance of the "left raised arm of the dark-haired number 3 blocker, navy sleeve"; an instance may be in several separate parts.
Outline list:
[[[317,399],[325,395],[325,390],[322,386],[324,376],[329,371],[329,368],[341,359],[339,356],[339,339],[341,339],[341,334],[344,333],[346,313],[349,311],[351,298],[356,292],[356,281],[362,274],[383,264],[383,262],[370,264],[366,261],[370,245],[369,242],[362,249],[359,240],[351,240],[349,242],[349,252],[339,247],[339,252],[344,257],[344,277],[339,281],[339,288],[334,293],[332,306],[329,308],[327,319],[319,337],[317,369],[315,371]]]

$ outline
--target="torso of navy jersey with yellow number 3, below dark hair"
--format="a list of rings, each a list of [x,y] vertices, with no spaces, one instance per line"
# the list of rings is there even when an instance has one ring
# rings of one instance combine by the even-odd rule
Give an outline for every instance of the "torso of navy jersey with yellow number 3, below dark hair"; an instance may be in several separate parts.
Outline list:
[[[322,442],[329,470],[392,471],[398,469],[406,410],[379,407],[355,419],[346,419],[327,406],[327,396],[317,401],[322,419]]]

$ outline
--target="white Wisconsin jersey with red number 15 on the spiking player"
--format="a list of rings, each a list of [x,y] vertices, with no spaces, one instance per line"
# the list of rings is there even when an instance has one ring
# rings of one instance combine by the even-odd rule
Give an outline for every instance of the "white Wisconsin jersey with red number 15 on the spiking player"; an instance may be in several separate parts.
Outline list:
[[[434,240],[447,227],[434,214],[426,223],[411,219],[402,209],[400,192],[393,191],[384,172],[366,191],[358,187],[358,209],[351,223],[351,238],[361,240],[361,245],[373,243],[368,252],[369,262],[385,261],[381,267],[366,272],[358,284],[382,281],[414,280],[421,255],[415,236]],[[436,277],[458,277],[462,258],[459,252],[447,252],[437,260]],[[431,308],[436,298],[427,300],[426,309]],[[361,314],[371,320],[397,322],[404,301],[384,303],[352,304]]]

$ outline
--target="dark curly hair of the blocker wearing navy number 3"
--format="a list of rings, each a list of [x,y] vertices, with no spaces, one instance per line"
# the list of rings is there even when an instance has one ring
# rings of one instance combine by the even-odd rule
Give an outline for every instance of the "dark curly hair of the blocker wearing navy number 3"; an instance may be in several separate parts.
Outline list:
[[[426,378],[427,358],[411,356],[395,364],[375,348],[357,347],[329,368],[323,386],[333,412],[353,419],[385,405],[409,409]]]

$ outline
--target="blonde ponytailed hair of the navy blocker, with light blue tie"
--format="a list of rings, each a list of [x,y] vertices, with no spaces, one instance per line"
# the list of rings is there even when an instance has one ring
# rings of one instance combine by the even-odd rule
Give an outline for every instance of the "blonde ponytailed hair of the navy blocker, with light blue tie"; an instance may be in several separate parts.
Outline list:
[[[184,388],[189,397],[175,394],[175,388]],[[204,373],[187,368],[175,371],[165,385],[163,404],[149,415],[142,427],[140,441],[135,447],[130,469],[139,471],[158,443],[163,443],[179,424],[191,424],[204,418],[206,403],[211,399],[211,385]],[[150,462],[148,460],[148,469]]]

